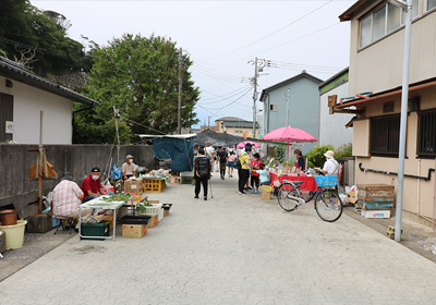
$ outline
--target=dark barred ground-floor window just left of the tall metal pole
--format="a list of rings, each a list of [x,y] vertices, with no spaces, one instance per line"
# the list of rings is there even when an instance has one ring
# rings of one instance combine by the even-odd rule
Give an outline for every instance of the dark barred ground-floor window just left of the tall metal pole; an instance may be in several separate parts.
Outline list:
[[[398,156],[400,115],[371,120],[371,155]]]

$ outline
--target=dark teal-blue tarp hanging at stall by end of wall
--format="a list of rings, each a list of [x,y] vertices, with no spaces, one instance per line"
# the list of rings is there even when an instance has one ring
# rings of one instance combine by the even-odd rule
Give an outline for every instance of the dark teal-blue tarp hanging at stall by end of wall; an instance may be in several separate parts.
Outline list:
[[[192,138],[155,138],[153,148],[156,158],[172,159],[171,171],[193,170],[194,141]]]

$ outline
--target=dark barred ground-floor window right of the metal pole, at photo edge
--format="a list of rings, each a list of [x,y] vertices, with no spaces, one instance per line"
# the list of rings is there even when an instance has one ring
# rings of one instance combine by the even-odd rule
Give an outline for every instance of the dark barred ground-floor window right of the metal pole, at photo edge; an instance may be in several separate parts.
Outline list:
[[[417,155],[436,157],[436,110],[419,114]]]

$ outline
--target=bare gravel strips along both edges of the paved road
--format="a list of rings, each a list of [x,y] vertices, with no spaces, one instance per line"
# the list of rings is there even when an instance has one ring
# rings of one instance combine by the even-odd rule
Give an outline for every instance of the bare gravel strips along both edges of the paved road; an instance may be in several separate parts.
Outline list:
[[[389,219],[367,219],[356,215],[354,207],[346,207],[344,213],[383,235],[386,235],[389,225],[395,225],[395,217]],[[402,218],[402,228],[403,234],[401,235],[400,244],[436,263],[436,233],[433,232],[432,228],[419,224],[404,217]],[[60,230],[53,235],[55,230],[52,229],[46,233],[26,233],[24,234],[23,247],[4,252],[4,258],[0,258],[0,282],[68,240],[77,239],[77,234],[74,231],[70,235],[68,230]]]

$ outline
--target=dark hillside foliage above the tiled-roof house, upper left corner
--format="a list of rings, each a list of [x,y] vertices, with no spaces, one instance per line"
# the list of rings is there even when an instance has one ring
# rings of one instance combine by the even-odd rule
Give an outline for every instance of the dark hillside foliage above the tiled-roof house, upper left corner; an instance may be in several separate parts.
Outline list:
[[[27,0],[2,0],[0,49],[9,59],[21,60],[24,52],[36,51],[26,66],[35,73],[63,73],[90,69],[84,46],[68,37],[70,21],[53,11],[41,11]]]

